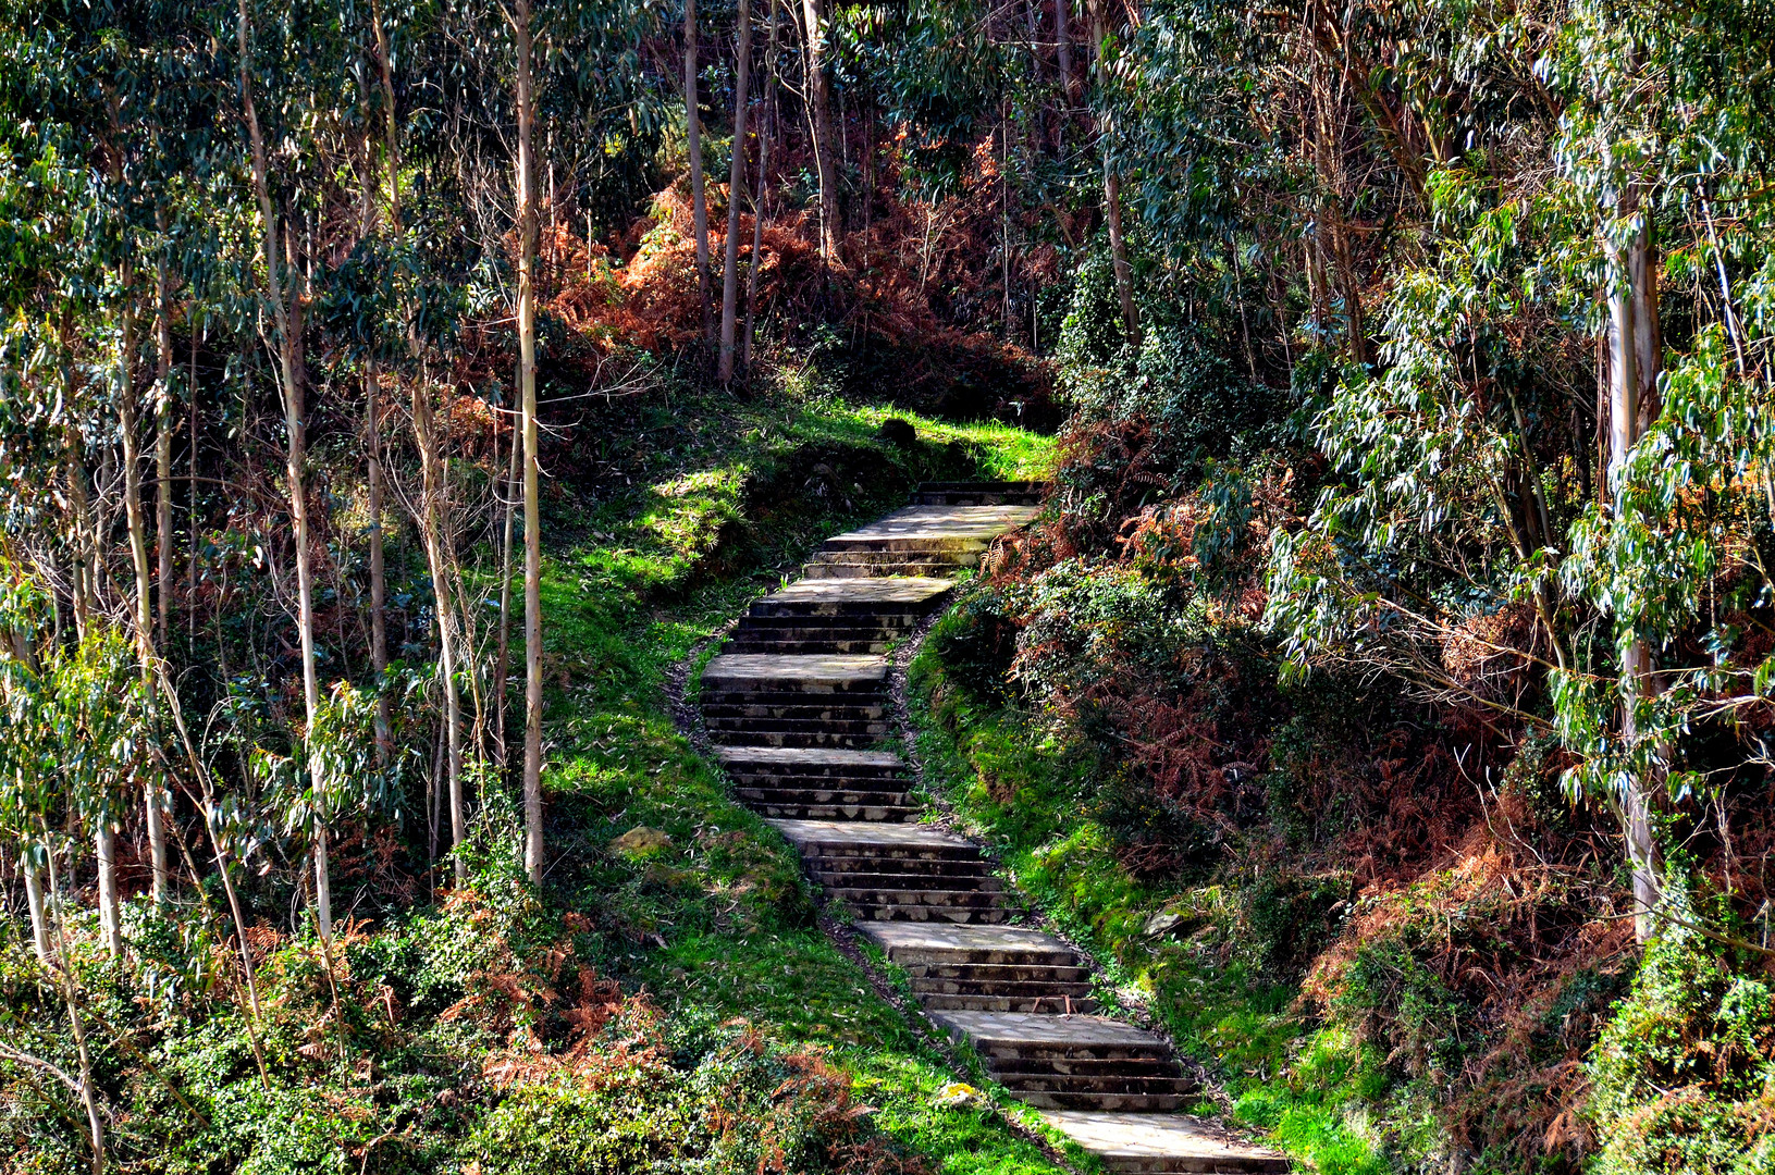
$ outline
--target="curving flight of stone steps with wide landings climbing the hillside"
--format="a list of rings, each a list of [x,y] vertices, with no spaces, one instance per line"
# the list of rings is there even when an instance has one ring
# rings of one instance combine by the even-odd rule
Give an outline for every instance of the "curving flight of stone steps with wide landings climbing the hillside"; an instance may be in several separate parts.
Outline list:
[[[927,1015],[1014,1097],[1113,1171],[1287,1171],[1177,1113],[1195,1093],[1170,1044],[1095,1015],[1070,946],[1008,925],[1014,896],[973,841],[918,824],[891,731],[886,651],[1035,517],[1033,483],[928,483],[914,504],[827,540],[806,579],[740,618],[703,671],[703,721],[738,799],[905,967]]]

